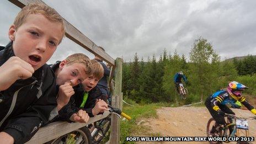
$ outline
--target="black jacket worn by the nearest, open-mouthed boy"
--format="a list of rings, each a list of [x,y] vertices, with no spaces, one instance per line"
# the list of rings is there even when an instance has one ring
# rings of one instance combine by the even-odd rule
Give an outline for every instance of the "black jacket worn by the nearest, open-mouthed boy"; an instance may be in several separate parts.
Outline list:
[[[0,66],[14,56],[12,42],[0,51]],[[0,131],[7,132],[15,143],[25,143],[49,121],[56,108],[56,79],[47,65],[28,79],[19,79],[0,92]]]

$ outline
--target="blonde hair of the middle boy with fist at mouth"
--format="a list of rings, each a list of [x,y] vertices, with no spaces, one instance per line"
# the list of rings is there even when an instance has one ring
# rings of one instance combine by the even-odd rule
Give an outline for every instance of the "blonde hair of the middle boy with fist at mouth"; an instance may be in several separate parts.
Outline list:
[[[92,62],[90,61],[90,58],[84,54],[73,54],[68,56],[66,59],[67,61],[66,65],[72,65],[73,63],[82,63],[86,67],[86,74],[90,76],[93,71]]]

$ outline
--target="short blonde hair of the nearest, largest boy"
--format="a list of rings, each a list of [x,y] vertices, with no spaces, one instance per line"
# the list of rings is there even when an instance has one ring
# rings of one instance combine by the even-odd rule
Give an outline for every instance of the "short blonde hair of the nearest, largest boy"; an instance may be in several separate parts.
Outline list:
[[[19,28],[20,25],[22,25],[25,22],[26,17],[28,17],[29,14],[42,14],[51,22],[61,23],[62,38],[65,35],[65,26],[61,15],[58,14],[55,9],[42,3],[30,3],[24,8],[22,8],[22,10],[16,16],[13,23],[15,25],[16,30]]]

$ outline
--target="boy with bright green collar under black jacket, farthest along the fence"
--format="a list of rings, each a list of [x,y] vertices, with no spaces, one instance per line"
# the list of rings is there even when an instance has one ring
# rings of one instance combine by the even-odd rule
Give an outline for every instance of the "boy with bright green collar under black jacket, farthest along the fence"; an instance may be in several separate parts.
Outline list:
[[[81,109],[85,110],[90,117],[108,110],[105,95],[96,86],[99,79],[103,77],[104,69],[95,60],[92,60],[92,64],[92,75],[85,79],[82,84],[74,87],[75,93],[70,102],[59,111],[62,120],[73,121],[72,115]]]

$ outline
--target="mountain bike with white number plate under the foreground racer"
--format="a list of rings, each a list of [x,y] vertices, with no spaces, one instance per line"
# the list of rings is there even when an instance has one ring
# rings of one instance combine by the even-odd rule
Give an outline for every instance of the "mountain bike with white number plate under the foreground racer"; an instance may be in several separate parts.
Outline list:
[[[216,127],[216,132],[211,134],[212,128],[215,126],[216,121],[214,118],[209,119],[206,127],[207,137],[240,137],[241,134],[243,136],[249,137],[249,125],[248,120],[253,119],[256,120],[256,116],[249,118],[239,118],[235,115],[226,114],[225,120],[226,125]],[[230,141],[225,141],[228,143]],[[221,141],[210,141],[210,143],[222,143]],[[250,143],[246,141],[237,141],[237,143]]]

